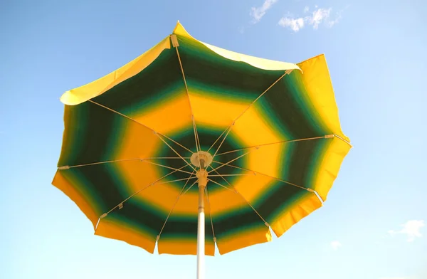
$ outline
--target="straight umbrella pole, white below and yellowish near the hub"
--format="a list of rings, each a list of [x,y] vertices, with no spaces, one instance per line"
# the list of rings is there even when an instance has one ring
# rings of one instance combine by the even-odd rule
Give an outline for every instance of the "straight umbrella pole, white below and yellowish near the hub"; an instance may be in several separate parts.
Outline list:
[[[205,216],[204,216],[204,188],[208,183],[208,173],[205,169],[197,172],[199,177],[199,214],[197,216],[197,279],[204,278],[205,256]]]

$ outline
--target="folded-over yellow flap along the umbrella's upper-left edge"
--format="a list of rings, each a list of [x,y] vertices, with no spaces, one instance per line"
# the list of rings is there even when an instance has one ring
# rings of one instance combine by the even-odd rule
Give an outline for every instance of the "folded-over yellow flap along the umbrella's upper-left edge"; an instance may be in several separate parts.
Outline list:
[[[95,98],[96,96],[105,93],[113,86],[121,83],[123,80],[131,78],[144,70],[144,68],[147,68],[147,66],[151,64],[160,55],[160,53],[164,51],[164,49],[167,48],[170,48],[169,36],[164,38],[153,48],[149,49],[149,51],[130,61],[126,65],[123,65],[114,72],[109,73],[108,75],[105,75],[91,83],[80,86],[79,88],[65,92],[60,98],[60,101],[65,105],[78,105],[81,102]]]

